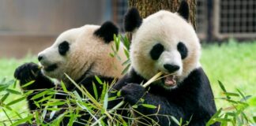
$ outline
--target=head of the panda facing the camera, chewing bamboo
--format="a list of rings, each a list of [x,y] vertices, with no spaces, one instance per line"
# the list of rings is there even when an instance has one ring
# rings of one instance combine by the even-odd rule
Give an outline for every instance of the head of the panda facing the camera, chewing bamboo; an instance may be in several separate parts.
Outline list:
[[[200,65],[201,46],[188,17],[184,1],[177,13],[160,10],[144,20],[135,8],[126,13],[125,29],[133,33],[130,59],[135,72],[147,80],[164,72],[156,83],[174,89]]]

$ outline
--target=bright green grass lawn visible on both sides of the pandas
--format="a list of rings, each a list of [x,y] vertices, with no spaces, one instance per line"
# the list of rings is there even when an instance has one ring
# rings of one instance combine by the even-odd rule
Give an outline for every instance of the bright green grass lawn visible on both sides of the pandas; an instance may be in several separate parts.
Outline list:
[[[228,91],[235,91],[239,89],[246,95],[253,95],[250,98],[250,109],[248,110],[250,115],[256,115],[256,42],[255,43],[224,43],[221,46],[217,44],[203,45],[201,55],[201,65],[205,69],[206,74],[209,76],[209,80],[213,87],[213,93],[216,98],[220,98],[221,90],[217,83],[220,80],[224,83],[224,86]],[[36,61],[36,57],[25,57],[24,59],[0,59],[0,80],[6,77],[7,80],[13,79],[14,69],[18,65],[28,61]],[[0,83],[2,84],[2,83]],[[0,98],[2,93],[0,92]],[[7,99],[18,98],[19,95],[12,95]],[[25,102],[19,102],[12,106],[19,112],[26,111]],[[216,106],[218,108],[226,106],[226,103],[221,100],[216,100]],[[12,112],[9,112],[12,113]],[[0,109],[0,119],[6,119],[2,109]]]

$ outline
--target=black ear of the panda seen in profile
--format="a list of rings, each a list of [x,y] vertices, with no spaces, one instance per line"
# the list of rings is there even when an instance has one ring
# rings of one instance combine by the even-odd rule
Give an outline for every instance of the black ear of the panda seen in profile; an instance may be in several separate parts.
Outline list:
[[[119,28],[115,26],[111,21],[106,21],[94,32],[94,35],[103,38],[105,43],[110,43],[114,40],[114,34],[119,34]]]

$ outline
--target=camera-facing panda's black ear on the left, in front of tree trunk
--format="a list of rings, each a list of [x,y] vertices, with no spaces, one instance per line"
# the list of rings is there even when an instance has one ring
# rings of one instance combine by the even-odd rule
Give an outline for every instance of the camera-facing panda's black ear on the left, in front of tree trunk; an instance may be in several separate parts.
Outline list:
[[[137,9],[135,7],[129,9],[124,18],[125,31],[134,31],[135,28],[139,28],[141,26],[141,23],[142,18]]]

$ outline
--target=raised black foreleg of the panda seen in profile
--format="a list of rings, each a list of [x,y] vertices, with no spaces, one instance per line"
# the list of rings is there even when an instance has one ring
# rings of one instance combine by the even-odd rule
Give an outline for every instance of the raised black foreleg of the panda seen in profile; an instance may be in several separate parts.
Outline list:
[[[40,71],[40,66],[32,62],[19,66],[14,72],[14,77],[17,80],[20,80],[20,86],[23,91],[33,90],[33,93],[27,97],[28,107],[31,111],[37,109],[34,101],[39,101],[41,99],[37,98],[35,100],[31,100],[31,98],[42,91],[42,89],[55,87],[55,84]],[[32,80],[35,82],[27,87],[22,87],[24,84],[29,83]]]

